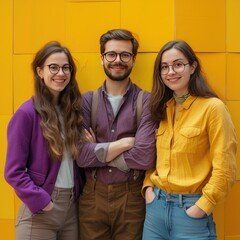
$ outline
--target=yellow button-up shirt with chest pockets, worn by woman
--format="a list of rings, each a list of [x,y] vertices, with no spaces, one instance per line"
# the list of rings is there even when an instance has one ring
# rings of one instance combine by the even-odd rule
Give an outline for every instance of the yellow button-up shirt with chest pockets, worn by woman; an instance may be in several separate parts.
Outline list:
[[[157,131],[156,169],[143,188],[168,193],[202,193],[196,205],[210,214],[236,179],[236,133],[225,104],[217,98],[189,96],[173,120],[175,101]]]

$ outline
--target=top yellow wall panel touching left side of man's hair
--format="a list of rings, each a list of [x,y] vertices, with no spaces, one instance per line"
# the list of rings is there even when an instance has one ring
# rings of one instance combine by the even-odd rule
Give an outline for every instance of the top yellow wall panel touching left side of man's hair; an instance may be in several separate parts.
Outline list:
[[[67,5],[67,45],[74,52],[99,52],[99,38],[120,28],[119,2],[81,2]]]

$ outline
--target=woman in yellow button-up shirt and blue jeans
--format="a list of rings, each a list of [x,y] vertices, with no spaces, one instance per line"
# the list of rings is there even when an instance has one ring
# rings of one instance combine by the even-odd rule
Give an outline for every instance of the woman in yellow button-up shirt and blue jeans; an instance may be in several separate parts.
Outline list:
[[[235,182],[236,133],[186,42],[160,50],[150,107],[160,126],[156,168],[143,186],[143,240],[216,239],[212,211]]]

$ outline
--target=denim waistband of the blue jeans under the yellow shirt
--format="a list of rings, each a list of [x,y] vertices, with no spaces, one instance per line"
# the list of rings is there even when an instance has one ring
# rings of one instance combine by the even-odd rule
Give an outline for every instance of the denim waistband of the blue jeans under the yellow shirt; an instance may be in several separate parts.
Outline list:
[[[163,199],[166,202],[176,202],[179,203],[180,206],[185,202],[196,202],[201,196],[201,193],[196,194],[176,194],[176,193],[168,193],[163,191],[158,187],[154,187],[155,195],[158,199]]]

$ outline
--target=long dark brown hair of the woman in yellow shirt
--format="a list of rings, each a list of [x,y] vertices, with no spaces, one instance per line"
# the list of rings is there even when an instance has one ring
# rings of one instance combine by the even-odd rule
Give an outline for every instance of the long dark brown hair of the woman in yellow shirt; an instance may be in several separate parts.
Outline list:
[[[175,48],[187,58],[189,65],[197,63],[194,73],[191,75],[188,92],[192,96],[217,97],[217,94],[209,87],[201,70],[201,64],[193,49],[182,40],[166,43],[159,51],[154,64],[153,85],[150,97],[150,110],[154,120],[160,121],[166,117],[166,103],[173,97],[173,90],[167,87],[161,78],[162,55],[167,50]]]

